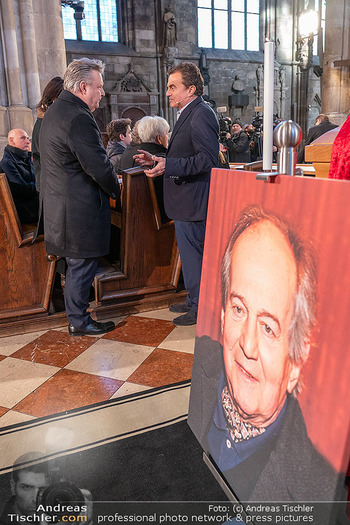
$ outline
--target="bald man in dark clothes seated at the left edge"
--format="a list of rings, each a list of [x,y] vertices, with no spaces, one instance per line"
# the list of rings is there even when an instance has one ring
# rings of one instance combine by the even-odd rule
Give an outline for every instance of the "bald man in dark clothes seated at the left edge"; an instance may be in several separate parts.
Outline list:
[[[0,161],[0,172],[6,174],[20,222],[37,222],[39,196],[35,187],[29,137],[23,129],[11,129],[8,142]]]

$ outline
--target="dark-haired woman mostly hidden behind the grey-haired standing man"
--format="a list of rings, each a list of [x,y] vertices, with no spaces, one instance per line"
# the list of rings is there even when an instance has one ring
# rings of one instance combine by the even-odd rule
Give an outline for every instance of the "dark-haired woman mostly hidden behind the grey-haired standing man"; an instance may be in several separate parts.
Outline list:
[[[46,84],[41,100],[37,105],[37,120],[34,124],[33,134],[32,134],[32,154],[33,154],[33,164],[35,172],[35,185],[36,189],[40,190],[40,148],[39,148],[39,133],[41,128],[41,123],[45,112],[49,106],[56,100],[58,95],[63,90],[63,78],[54,77]]]

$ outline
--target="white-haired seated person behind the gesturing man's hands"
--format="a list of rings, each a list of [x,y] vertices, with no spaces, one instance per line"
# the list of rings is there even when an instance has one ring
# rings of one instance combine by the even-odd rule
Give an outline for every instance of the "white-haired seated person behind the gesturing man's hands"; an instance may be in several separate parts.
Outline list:
[[[165,157],[168,147],[168,132],[169,124],[162,117],[147,116],[138,120],[137,133],[141,143],[130,146],[125,150],[120,159],[120,169],[127,170],[128,168],[139,166],[133,159],[133,156],[137,155],[138,150],[147,151],[158,157]],[[153,183],[162,222],[167,222],[169,219],[164,210],[163,176],[154,178]]]

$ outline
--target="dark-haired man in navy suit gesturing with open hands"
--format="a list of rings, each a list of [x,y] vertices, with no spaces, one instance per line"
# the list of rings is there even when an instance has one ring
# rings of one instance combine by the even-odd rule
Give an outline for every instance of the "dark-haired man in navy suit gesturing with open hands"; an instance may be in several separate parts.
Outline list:
[[[166,158],[142,151],[136,156],[141,165],[156,163],[146,170],[149,177],[164,174],[164,204],[174,219],[185,287],[186,302],[171,305],[182,315],[176,325],[197,322],[199,284],[202,269],[210,172],[219,158],[219,124],[201,95],[204,82],[197,66],[182,62],[169,71],[169,103],[178,110]]]

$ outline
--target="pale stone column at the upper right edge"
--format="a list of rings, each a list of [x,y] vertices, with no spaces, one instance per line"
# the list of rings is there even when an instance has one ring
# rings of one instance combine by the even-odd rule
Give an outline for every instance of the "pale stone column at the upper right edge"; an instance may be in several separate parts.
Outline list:
[[[336,60],[350,59],[350,0],[327,2],[324,66],[322,76],[322,113],[335,124],[342,124],[350,108],[349,66],[334,66]]]

